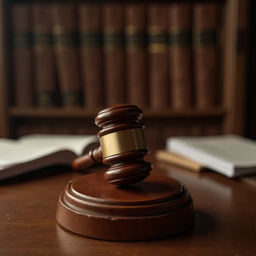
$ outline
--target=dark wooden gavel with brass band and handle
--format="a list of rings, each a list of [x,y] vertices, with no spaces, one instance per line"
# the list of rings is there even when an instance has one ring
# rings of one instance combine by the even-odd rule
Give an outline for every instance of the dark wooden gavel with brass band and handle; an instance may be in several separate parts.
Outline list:
[[[144,160],[149,150],[144,125],[138,122],[142,115],[140,108],[129,104],[117,104],[100,111],[95,118],[95,124],[102,128],[98,132],[100,147],[76,158],[72,168],[83,170],[102,161],[111,166],[104,174],[110,184],[124,186],[146,179],[153,166]]]

